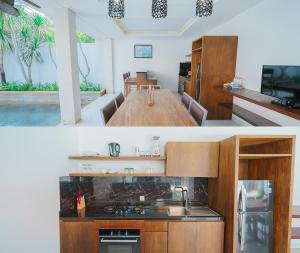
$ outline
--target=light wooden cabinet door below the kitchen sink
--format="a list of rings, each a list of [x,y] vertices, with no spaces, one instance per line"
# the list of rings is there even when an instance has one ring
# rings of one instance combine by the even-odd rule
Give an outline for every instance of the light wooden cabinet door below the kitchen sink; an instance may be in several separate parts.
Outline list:
[[[169,253],[223,253],[223,222],[169,222]]]

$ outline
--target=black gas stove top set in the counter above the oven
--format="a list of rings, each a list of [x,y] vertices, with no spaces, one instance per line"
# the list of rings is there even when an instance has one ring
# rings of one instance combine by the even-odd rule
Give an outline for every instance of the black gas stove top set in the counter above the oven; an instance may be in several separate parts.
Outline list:
[[[103,213],[112,216],[145,215],[149,209],[146,206],[135,205],[111,205],[103,208]]]

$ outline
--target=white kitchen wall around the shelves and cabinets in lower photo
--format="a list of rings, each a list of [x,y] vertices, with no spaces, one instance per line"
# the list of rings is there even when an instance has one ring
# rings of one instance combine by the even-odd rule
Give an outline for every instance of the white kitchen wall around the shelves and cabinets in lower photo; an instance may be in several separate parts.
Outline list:
[[[294,203],[300,204],[300,130],[297,128],[2,128],[0,129],[0,252],[59,252],[59,176],[70,154],[121,144],[148,149],[153,135],[168,140],[221,140],[234,134],[298,134]]]

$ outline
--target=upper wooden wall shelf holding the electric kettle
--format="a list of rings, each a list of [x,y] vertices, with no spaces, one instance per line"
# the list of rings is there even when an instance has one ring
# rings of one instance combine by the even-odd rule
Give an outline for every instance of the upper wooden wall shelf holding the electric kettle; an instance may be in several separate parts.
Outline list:
[[[160,157],[139,157],[139,156],[69,156],[69,160],[77,161],[165,161],[165,156]]]

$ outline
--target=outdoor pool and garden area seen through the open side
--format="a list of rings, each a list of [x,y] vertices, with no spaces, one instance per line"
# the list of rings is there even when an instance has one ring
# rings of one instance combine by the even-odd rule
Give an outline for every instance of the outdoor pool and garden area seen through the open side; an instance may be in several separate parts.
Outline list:
[[[31,8],[16,7],[18,17],[0,11],[0,126],[54,126],[61,119],[53,22]],[[103,57],[94,38],[80,31],[77,38],[84,108],[105,94]]]

